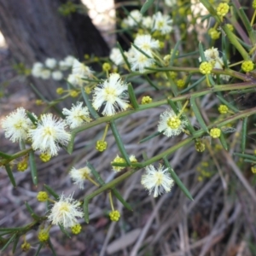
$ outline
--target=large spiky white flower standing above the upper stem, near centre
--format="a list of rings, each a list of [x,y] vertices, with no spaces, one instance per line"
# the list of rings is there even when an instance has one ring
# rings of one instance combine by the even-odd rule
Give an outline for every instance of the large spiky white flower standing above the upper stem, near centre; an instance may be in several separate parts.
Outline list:
[[[113,115],[116,113],[116,108],[125,110],[128,108],[128,103],[124,99],[126,90],[128,90],[128,86],[121,81],[120,75],[118,73],[110,74],[109,78],[93,91],[93,108],[99,110],[104,106],[103,115]]]

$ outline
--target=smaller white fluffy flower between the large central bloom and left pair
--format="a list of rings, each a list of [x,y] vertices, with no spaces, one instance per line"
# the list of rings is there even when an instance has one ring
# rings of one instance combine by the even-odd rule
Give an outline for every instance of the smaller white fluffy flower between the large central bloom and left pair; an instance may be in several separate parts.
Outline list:
[[[62,113],[66,115],[67,125],[71,129],[82,125],[84,122],[90,122],[90,113],[87,107],[83,107],[83,102],[77,102],[70,110],[63,108]]]

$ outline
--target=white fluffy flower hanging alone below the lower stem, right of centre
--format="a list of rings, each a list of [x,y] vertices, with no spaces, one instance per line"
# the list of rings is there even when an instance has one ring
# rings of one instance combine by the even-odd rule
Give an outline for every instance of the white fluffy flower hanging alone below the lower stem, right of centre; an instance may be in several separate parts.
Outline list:
[[[142,176],[142,181],[145,189],[148,189],[149,195],[154,191],[154,197],[170,192],[173,185],[172,177],[168,172],[168,168],[159,166],[156,170],[154,166],[146,166],[146,174]]]

